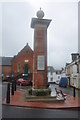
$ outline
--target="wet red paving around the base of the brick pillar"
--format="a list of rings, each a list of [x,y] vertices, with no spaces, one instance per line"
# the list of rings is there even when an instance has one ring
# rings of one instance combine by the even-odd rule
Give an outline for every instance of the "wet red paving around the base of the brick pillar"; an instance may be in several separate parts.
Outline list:
[[[20,106],[20,107],[32,107],[32,108],[50,108],[50,109],[72,109],[80,108],[80,98],[67,95],[64,102],[29,102],[24,98],[23,90],[16,90],[14,95],[10,94],[10,103],[6,103],[6,98],[3,100],[3,105]]]

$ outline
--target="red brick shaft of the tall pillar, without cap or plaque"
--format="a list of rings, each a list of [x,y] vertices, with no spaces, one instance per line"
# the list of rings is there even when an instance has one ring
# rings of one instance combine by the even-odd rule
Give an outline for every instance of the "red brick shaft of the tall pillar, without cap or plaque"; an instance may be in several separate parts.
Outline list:
[[[34,73],[33,87],[46,88],[47,84],[47,30],[36,27],[34,32]],[[37,57],[44,56],[44,70],[37,70]]]

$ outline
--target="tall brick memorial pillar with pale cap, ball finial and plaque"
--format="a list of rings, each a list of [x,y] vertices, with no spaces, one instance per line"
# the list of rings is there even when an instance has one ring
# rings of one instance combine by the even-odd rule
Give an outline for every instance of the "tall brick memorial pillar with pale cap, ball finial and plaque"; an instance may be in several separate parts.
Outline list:
[[[40,8],[37,18],[31,20],[31,28],[34,28],[33,89],[47,86],[47,28],[51,20],[43,17]]]

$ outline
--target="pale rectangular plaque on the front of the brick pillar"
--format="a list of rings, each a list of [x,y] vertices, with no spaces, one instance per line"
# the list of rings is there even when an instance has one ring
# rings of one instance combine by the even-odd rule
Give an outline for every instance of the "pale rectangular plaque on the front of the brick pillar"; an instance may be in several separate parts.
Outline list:
[[[44,70],[44,69],[45,69],[44,56],[39,55],[37,57],[37,70]]]

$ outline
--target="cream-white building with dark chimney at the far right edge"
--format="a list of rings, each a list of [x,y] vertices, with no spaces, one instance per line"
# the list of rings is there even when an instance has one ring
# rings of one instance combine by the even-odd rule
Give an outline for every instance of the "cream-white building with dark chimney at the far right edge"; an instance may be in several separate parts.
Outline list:
[[[68,84],[80,88],[80,58],[78,53],[72,54],[72,62],[66,65]]]

